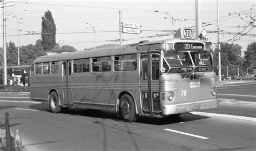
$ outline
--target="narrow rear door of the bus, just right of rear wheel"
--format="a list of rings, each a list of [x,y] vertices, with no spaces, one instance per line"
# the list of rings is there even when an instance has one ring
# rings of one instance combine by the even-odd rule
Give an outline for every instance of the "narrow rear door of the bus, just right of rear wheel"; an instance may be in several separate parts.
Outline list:
[[[62,68],[63,68],[63,73],[62,73],[62,84],[63,84],[63,97],[64,97],[64,103],[65,105],[71,105],[72,104],[72,91],[71,91],[71,86],[72,86],[72,81],[71,81],[71,65],[72,62],[69,61],[63,61],[62,63]]]

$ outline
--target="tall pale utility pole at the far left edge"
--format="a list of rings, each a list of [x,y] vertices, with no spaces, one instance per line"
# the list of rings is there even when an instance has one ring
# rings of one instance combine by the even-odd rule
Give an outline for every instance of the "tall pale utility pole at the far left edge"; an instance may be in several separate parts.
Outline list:
[[[3,60],[4,60],[4,85],[7,85],[7,65],[6,65],[6,20],[5,20],[5,3],[3,1]]]

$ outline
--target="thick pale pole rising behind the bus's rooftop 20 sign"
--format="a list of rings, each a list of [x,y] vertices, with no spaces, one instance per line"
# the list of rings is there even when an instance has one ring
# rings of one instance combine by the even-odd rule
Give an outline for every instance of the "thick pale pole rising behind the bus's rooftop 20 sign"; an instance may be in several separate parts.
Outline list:
[[[200,40],[199,35],[202,29],[201,22],[201,2],[200,0],[196,0],[196,39]]]

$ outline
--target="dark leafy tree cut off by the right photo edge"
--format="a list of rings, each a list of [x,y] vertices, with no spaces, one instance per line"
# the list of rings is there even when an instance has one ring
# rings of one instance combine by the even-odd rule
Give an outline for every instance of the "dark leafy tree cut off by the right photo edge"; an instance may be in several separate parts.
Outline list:
[[[252,74],[254,69],[256,69],[256,42],[253,42],[247,46],[245,51],[245,61],[244,61],[244,70],[248,68],[248,74]]]

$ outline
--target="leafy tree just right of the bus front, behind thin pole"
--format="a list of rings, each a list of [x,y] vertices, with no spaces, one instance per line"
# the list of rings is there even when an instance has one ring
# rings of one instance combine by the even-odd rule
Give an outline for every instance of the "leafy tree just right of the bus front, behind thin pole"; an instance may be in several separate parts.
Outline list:
[[[240,45],[222,43],[220,44],[220,60],[221,60],[221,74],[227,74],[228,67],[228,75],[236,75],[238,74],[238,67],[242,69],[243,59],[241,57],[241,49]],[[219,65],[219,54],[218,47],[215,47],[213,51],[213,61],[214,61],[214,72],[219,73],[218,65]],[[244,71],[240,70],[239,73],[244,73]]]

